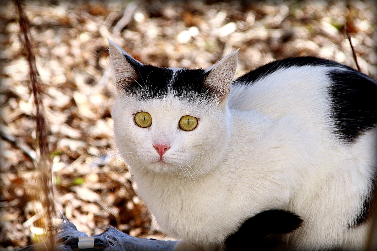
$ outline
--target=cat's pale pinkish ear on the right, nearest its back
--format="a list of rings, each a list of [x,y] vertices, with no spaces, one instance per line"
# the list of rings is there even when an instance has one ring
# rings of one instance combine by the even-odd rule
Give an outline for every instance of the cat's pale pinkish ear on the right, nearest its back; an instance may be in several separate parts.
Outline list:
[[[228,54],[206,70],[208,75],[204,80],[204,85],[218,93],[220,101],[226,100],[230,93],[230,86],[237,70],[237,53],[238,50]]]

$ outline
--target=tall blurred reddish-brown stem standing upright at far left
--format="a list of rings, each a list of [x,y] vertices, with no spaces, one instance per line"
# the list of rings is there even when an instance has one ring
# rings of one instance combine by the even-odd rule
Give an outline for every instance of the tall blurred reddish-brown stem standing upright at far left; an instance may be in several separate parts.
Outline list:
[[[43,205],[46,209],[46,233],[48,236],[48,242],[52,247],[51,250],[55,250],[55,231],[53,228],[53,220],[55,214],[54,205],[54,190],[52,183],[52,165],[49,159],[49,145],[48,145],[48,130],[46,126],[46,120],[43,113],[43,102],[41,99],[41,90],[37,78],[37,65],[35,64],[35,55],[32,50],[31,42],[29,39],[29,20],[26,17],[20,0],[14,0],[17,6],[19,23],[21,32],[23,33],[23,46],[25,49],[26,57],[29,63],[29,77],[32,85],[32,91],[34,94],[34,104],[36,108],[36,123],[37,123],[37,140],[40,151],[40,161],[38,167],[41,172],[41,185],[43,187]]]

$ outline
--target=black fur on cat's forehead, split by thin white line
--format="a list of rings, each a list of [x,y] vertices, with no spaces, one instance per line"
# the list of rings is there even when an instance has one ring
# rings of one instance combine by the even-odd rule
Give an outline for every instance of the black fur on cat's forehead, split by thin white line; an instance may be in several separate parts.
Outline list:
[[[156,99],[172,95],[189,99],[195,97],[211,99],[210,90],[204,85],[207,71],[203,69],[140,65],[136,70],[139,77],[129,83],[127,91],[142,99]]]

